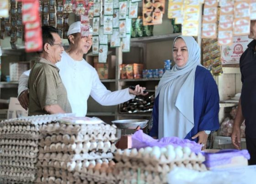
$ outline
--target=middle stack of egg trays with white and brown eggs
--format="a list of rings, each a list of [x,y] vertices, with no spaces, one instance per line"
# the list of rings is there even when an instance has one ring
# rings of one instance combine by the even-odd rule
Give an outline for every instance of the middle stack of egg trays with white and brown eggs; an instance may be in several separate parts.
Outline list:
[[[114,183],[116,127],[54,123],[42,127],[36,183]]]

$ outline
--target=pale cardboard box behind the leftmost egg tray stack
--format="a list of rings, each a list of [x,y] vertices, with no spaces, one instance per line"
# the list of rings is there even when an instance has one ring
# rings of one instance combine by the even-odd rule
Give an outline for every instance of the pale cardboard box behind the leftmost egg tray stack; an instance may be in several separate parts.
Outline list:
[[[25,117],[28,116],[28,111],[26,111],[23,107],[21,107],[21,104],[18,101],[18,98],[11,97],[9,108],[8,108],[7,119],[19,118],[22,116],[25,116]]]

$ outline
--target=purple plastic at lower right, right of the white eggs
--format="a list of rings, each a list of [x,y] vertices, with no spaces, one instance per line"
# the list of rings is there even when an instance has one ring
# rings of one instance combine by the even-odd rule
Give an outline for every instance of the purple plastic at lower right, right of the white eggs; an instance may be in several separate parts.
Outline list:
[[[208,168],[229,164],[231,159],[236,156],[244,156],[248,160],[250,159],[250,154],[248,153],[247,149],[224,149],[217,153],[202,152],[202,154],[205,156],[205,161],[203,164],[205,164],[205,166]]]

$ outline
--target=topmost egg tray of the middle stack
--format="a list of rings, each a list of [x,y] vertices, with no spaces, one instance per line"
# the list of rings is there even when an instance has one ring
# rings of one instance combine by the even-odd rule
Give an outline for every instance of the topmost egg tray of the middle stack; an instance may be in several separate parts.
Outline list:
[[[65,123],[49,123],[43,125],[40,128],[40,132],[43,135],[53,135],[53,134],[116,134],[117,127],[115,125],[109,125],[105,123],[100,124],[86,124],[86,125],[67,125]]]

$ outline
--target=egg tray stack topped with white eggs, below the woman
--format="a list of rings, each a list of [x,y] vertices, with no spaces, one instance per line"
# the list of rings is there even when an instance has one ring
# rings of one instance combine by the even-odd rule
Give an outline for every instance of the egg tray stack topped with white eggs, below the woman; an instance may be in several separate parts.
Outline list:
[[[118,149],[115,153],[117,164],[115,173],[119,183],[166,183],[167,174],[175,167],[207,170],[205,157],[202,153],[194,153],[188,147],[168,145],[163,148],[157,146]]]

